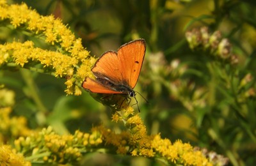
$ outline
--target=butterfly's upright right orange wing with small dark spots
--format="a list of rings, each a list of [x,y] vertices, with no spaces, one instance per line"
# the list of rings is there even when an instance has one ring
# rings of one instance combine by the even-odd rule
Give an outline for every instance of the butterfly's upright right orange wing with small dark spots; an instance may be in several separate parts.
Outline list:
[[[132,89],[136,86],[146,50],[145,40],[139,39],[122,45],[118,49],[118,62],[123,84]]]

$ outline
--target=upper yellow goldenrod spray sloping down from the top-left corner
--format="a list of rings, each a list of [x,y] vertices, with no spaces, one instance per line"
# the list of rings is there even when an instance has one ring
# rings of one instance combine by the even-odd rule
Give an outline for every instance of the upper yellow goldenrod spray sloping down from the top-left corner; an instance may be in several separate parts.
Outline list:
[[[63,50],[70,52],[71,56],[84,59],[88,51],[84,50],[81,39],[76,39],[74,34],[61,22],[54,19],[53,15],[42,16],[26,4],[8,5],[0,3],[0,21],[9,20],[14,28],[22,26],[31,33],[44,34],[45,42],[51,45],[59,43]]]

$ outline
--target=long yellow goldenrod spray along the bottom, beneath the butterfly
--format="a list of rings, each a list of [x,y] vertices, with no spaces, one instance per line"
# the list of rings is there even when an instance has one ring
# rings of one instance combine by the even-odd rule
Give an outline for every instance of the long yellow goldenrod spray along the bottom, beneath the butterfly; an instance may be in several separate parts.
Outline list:
[[[177,140],[172,144],[160,135],[147,135],[138,115],[129,117],[129,132],[115,133],[104,126],[92,128],[92,133],[76,131],[74,135],[58,135],[51,126],[40,133],[15,140],[15,149],[29,155],[30,162],[76,163],[83,153],[106,149],[121,155],[161,158],[168,163],[212,165],[199,150]]]

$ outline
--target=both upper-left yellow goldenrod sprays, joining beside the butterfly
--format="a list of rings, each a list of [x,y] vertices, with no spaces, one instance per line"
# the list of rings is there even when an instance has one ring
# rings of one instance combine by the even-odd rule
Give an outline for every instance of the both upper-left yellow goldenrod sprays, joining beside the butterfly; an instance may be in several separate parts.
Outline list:
[[[40,49],[35,47],[33,41],[6,43],[0,45],[0,66],[13,66],[15,63],[36,72],[65,77],[65,92],[81,94],[80,85],[83,79],[93,77],[90,69],[95,63],[95,58],[89,56],[90,52],[84,49],[81,39],[76,39],[60,19],[54,19],[52,15],[39,15],[24,3],[8,5],[2,0],[0,22],[4,22],[6,26],[10,24],[8,27],[24,34],[34,35],[56,48],[55,51]],[[35,68],[35,64],[38,63],[42,64],[43,68]]]

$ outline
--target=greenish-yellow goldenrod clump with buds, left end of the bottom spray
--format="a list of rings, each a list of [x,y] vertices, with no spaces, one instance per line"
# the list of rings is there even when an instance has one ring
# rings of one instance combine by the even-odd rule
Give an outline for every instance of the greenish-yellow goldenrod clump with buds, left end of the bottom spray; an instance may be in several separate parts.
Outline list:
[[[79,137],[77,137],[79,136]],[[29,137],[20,137],[15,140],[15,148],[25,154],[32,154],[33,161],[44,160],[45,162],[67,163],[81,159],[81,151],[77,146],[84,142],[81,133],[75,135],[58,135],[52,128],[44,128],[38,134]],[[40,149],[40,150],[38,150]],[[41,155],[44,154],[44,155]]]

